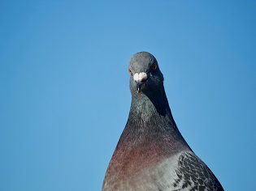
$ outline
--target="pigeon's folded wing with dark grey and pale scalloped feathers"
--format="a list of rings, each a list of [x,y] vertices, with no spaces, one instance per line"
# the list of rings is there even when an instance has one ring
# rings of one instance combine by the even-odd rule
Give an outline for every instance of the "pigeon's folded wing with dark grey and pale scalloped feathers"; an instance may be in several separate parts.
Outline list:
[[[210,171],[210,168],[202,162],[193,152],[185,152],[180,155],[176,176],[173,183],[175,190],[223,190],[219,180]]]

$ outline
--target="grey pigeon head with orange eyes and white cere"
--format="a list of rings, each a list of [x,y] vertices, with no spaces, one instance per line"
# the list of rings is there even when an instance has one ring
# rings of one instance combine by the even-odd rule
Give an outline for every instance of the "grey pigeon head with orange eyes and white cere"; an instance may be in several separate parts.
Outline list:
[[[147,52],[135,53],[128,64],[130,89],[145,95],[155,94],[163,86],[163,74],[155,57]]]

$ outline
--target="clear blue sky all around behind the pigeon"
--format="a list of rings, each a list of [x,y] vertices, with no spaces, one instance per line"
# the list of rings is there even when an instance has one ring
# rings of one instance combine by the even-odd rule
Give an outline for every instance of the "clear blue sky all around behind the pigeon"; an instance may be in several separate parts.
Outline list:
[[[256,190],[256,2],[148,0],[0,2],[1,191],[102,188],[139,51],[223,188]]]

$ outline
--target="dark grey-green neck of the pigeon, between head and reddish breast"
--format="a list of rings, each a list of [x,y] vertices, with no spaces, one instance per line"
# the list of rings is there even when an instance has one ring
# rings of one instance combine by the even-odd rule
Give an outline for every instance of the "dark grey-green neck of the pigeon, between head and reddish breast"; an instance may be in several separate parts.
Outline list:
[[[159,90],[162,91],[132,93],[132,105],[124,134],[131,133],[148,139],[152,136],[159,138],[167,132],[167,136],[170,137],[181,136],[171,115],[164,87]],[[155,132],[158,133],[155,134]]]

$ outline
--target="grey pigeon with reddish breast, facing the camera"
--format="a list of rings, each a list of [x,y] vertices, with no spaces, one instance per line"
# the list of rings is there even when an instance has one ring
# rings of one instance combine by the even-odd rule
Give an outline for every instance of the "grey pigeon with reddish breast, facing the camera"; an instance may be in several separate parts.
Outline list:
[[[135,53],[128,64],[132,104],[102,191],[223,190],[180,134],[156,58]]]

